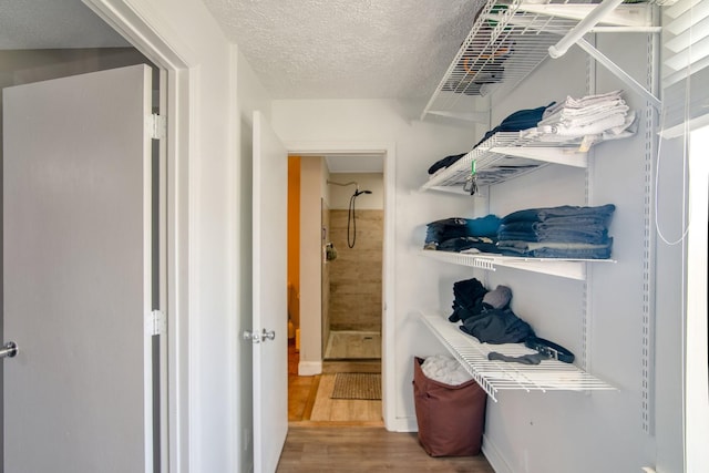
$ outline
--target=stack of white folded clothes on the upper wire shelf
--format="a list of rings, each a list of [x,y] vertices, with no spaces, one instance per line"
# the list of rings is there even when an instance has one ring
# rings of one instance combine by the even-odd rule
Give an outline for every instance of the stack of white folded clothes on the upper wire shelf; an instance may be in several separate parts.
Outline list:
[[[543,142],[584,142],[590,145],[635,134],[635,112],[621,99],[621,91],[567,96],[562,103],[548,107],[536,127],[525,134],[537,135]]]

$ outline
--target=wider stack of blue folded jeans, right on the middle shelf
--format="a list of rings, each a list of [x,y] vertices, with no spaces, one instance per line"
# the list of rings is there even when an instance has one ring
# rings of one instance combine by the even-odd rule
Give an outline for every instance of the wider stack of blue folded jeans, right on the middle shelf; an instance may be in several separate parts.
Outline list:
[[[615,205],[530,208],[505,216],[497,233],[503,255],[536,258],[607,259],[608,225]]]

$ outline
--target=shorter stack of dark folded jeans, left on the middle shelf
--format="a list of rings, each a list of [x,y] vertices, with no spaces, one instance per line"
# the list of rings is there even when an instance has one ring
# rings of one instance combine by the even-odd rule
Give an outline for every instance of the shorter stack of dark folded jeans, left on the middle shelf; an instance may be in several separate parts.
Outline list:
[[[427,225],[424,249],[463,251],[476,249],[496,253],[500,217],[487,215],[481,218],[451,217]]]

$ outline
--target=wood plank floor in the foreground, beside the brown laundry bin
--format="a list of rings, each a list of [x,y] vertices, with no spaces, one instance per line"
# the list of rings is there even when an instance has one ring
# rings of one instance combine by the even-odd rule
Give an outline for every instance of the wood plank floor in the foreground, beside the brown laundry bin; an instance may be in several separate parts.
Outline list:
[[[494,473],[485,457],[432,457],[415,433],[367,426],[290,426],[277,473]]]

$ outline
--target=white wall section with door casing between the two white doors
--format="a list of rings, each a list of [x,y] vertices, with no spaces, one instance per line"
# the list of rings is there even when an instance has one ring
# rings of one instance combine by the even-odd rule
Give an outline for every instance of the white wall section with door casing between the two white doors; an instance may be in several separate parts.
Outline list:
[[[184,471],[236,471],[243,455],[236,448],[242,443],[236,318],[240,302],[235,291],[240,282],[236,200],[240,153],[230,45],[199,0],[84,2],[140,43],[151,60],[160,63],[156,59],[162,56],[163,65],[174,68],[171,103],[179,109],[169,111],[168,133],[177,128],[188,133],[177,136],[168,151],[171,158],[177,157],[171,161],[176,186],[169,189],[171,203],[177,207],[173,224],[178,234],[176,248],[171,248],[176,271],[171,282],[186,289],[169,308],[176,316],[168,322],[173,341],[186,345],[181,345],[184,351],[171,371],[185,387],[171,407],[176,410],[172,419],[186,436],[172,444],[182,446],[179,457],[172,460]]]

